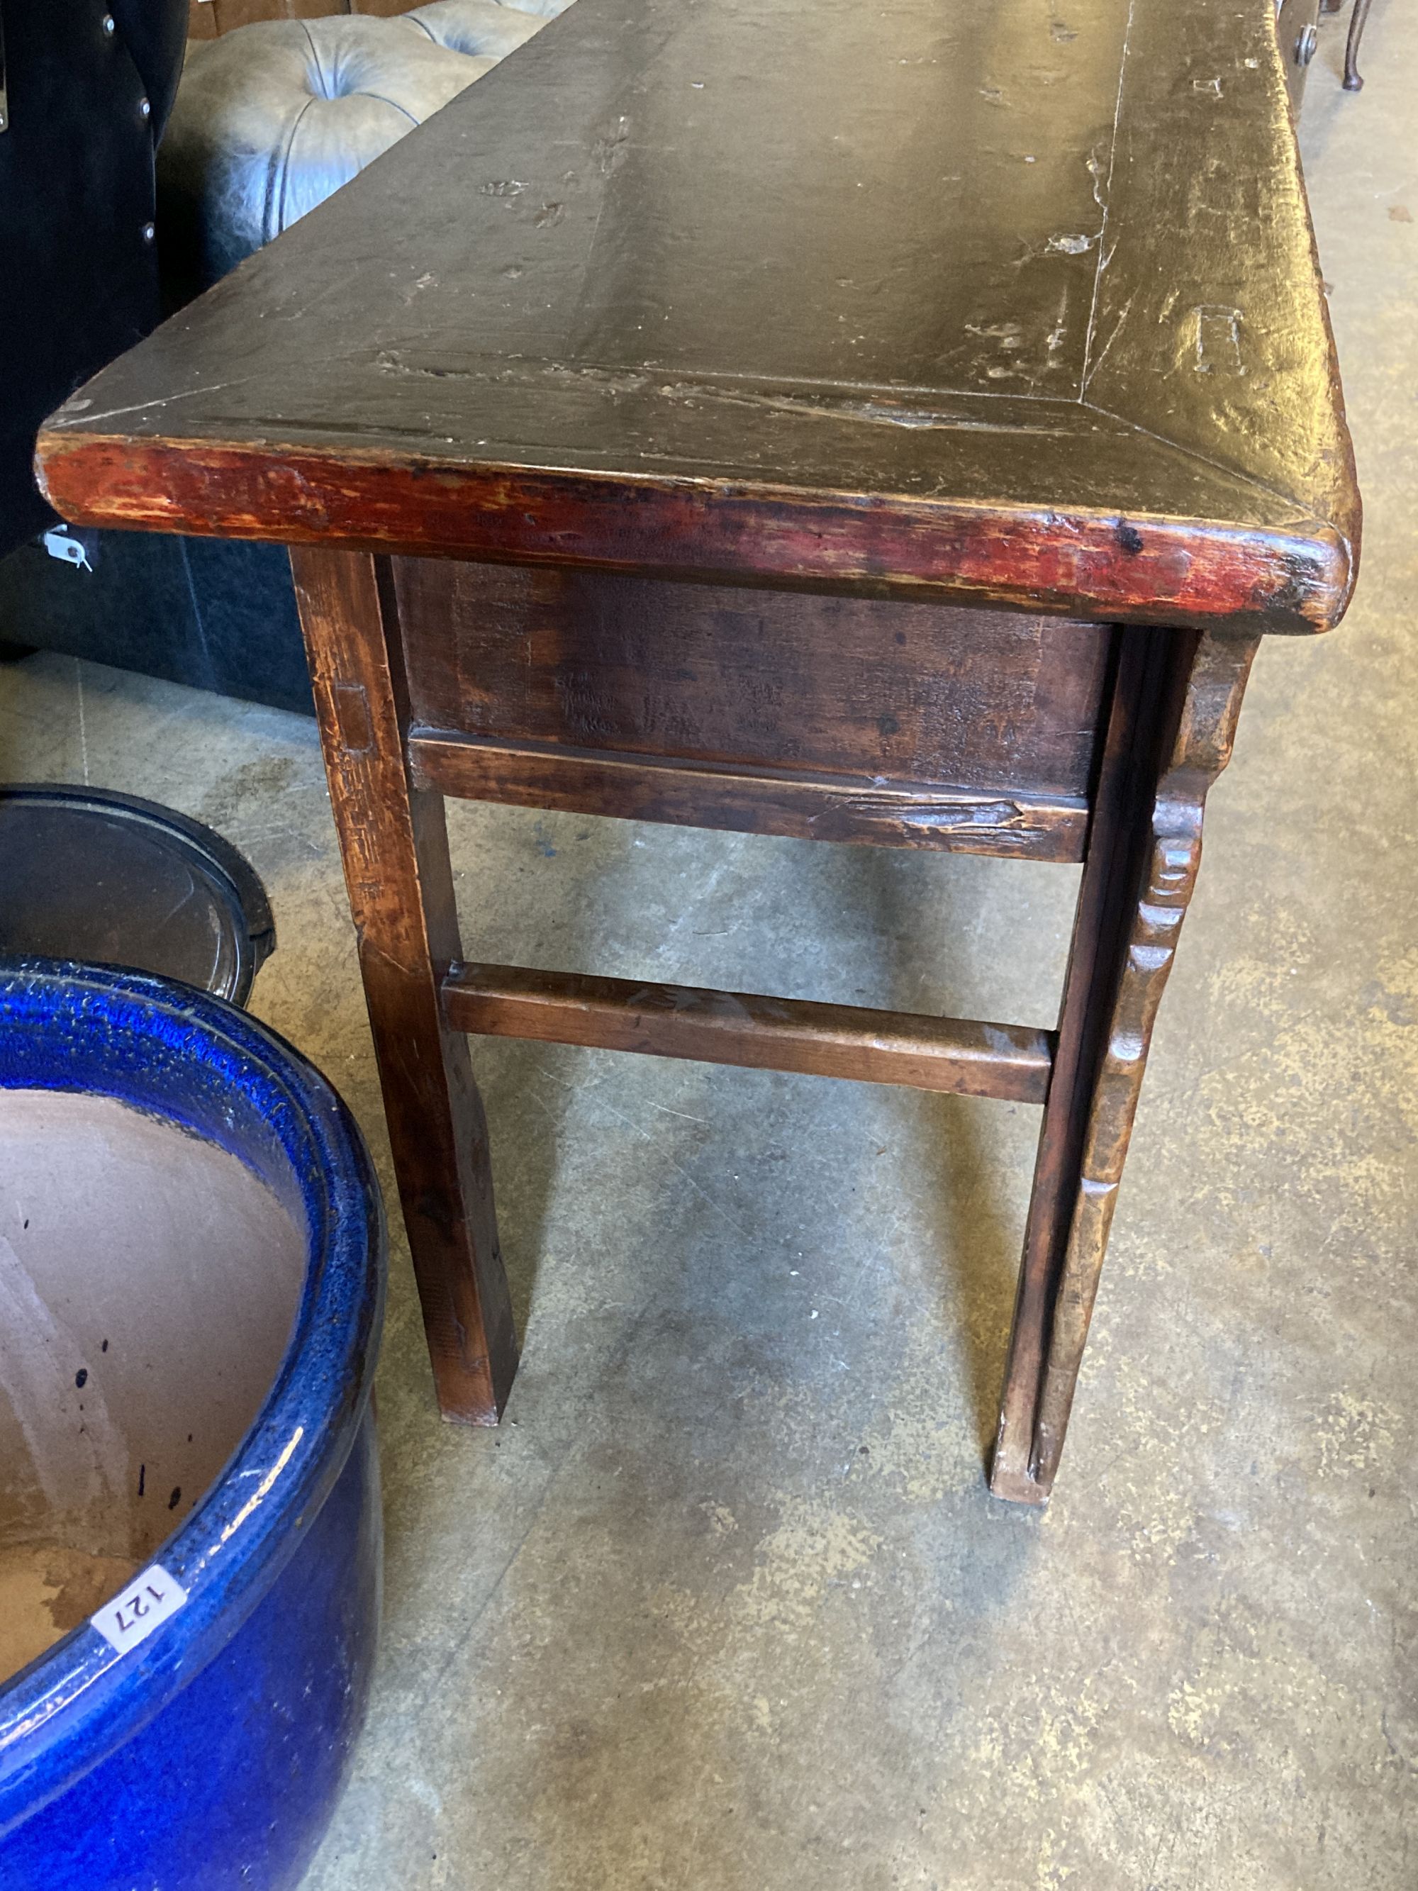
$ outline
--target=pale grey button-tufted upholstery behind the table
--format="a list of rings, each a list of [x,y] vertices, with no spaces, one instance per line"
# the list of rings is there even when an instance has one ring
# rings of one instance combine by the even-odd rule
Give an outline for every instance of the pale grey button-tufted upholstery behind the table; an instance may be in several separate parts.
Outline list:
[[[189,47],[159,157],[164,265],[216,282],[571,0],[435,0],[240,26]]]

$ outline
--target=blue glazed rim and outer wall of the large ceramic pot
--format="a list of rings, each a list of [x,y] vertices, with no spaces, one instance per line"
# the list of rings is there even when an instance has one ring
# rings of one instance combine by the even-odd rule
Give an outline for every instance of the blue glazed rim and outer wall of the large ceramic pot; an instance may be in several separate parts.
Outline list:
[[[0,1887],[289,1887],[340,1791],[378,1628],[384,1223],[369,1157],[287,1044],[129,972],[0,966],[0,1093],[15,1089],[117,1099],[240,1157],[304,1240],[304,1278],[225,1469],[127,1588],[0,1689]],[[200,1286],[200,1258],[193,1275]],[[87,1377],[76,1397],[96,1390]]]

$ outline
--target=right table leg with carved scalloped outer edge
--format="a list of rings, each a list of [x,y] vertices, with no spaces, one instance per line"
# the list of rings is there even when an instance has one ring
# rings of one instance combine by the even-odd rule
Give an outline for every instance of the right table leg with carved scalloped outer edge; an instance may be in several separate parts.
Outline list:
[[[1125,630],[1044,1112],[991,1490],[1046,1503],[1157,1004],[1257,639]]]

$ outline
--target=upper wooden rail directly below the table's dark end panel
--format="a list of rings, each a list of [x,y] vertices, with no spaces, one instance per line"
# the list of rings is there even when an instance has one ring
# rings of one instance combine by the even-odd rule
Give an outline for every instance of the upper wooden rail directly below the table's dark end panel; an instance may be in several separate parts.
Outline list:
[[[1081,860],[1087,832],[1083,796],[696,766],[418,728],[408,753],[420,781],[444,794],[734,834]]]

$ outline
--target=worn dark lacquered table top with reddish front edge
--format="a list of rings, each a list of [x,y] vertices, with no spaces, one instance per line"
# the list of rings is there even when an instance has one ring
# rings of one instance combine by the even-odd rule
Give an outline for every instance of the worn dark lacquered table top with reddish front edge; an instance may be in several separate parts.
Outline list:
[[[1272,0],[577,0],[98,374],[72,520],[1323,630]]]

